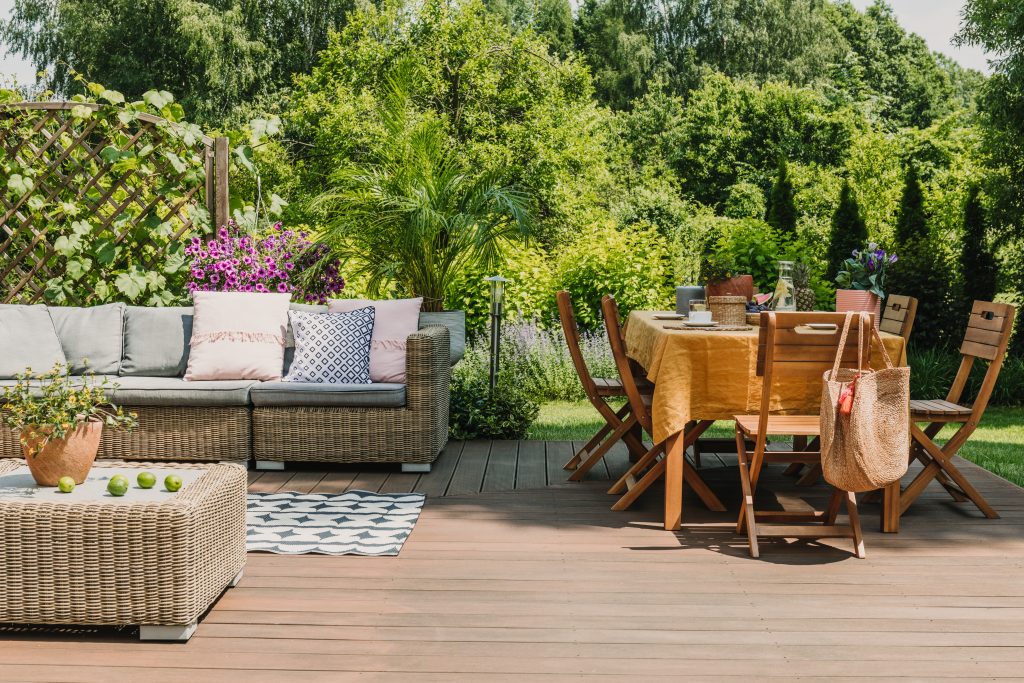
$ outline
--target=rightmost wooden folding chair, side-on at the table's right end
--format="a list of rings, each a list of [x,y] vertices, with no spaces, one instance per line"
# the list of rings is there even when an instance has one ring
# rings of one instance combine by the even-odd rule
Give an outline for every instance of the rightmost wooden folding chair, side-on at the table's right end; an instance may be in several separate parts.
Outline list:
[[[968,321],[967,334],[961,345],[961,367],[953,379],[953,384],[945,400],[911,400],[910,401],[910,444],[911,460],[920,460],[925,468],[918,473],[913,481],[900,495],[899,514],[918,500],[925,487],[935,479],[956,501],[971,501],[989,519],[997,519],[998,514],[984,497],[971,485],[964,473],[959,471],[952,458],[964,443],[971,437],[981,423],[981,418],[988,407],[988,399],[995,388],[1002,359],[1007,354],[1007,345],[1014,329],[1013,306],[1006,303],[975,301]],[[987,360],[988,370],[981,382],[981,388],[974,402],[968,407],[961,404],[964,389],[975,360]],[[919,423],[925,423],[922,429]],[[947,424],[958,424],[956,430],[945,445],[938,445],[935,435]]]

